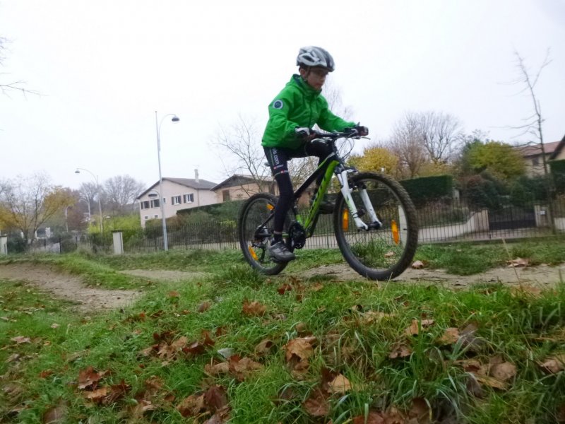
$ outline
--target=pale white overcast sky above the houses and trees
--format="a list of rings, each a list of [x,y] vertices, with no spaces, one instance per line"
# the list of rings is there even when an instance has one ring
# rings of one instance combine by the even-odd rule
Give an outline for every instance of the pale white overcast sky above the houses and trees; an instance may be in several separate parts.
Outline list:
[[[0,36],[0,83],[42,93],[0,95],[0,178],[78,188],[82,167],[153,184],[157,111],[181,119],[162,122],[163,176],[221,182],[210,142],[239,116],[262,133],[303,45],[331,52],[331,84],[373,139],[434,110],[510,143],[533,112],[509,84],[514,52],[533,72],[550,48],[537,96],[545,141],[565,135],[564,0],[0,0]]]

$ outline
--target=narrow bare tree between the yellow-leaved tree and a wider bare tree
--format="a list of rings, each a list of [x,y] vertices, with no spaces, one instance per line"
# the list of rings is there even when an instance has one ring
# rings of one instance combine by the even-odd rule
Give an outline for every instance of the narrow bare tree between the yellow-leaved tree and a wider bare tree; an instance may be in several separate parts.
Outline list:
[[[398,156],[400,172],[409,178],[416,177],[422,165],[428,160],[428,153],[423,143],[420,115],[406,112],[393,126],[393,135],[388,141],[388,148]]]

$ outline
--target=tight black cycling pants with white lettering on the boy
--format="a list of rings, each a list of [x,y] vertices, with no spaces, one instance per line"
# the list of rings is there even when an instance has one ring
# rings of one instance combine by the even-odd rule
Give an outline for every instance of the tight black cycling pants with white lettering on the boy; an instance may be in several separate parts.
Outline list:
[[[278,202],[275,206],[274,230],[276,232],[283,232],[285,225],[285,217],[287,211],[292,205],[292,182],[288,173],[288,160],[292,158],[306,158],[307,156],[317,156],[319,164],[332,153],[332,148],[329,144],[320,139],[308,141],[304,146],[298,149],[280,148],[280,147],[265,147],[265,155],[270,165],[270,170],[273,172],[273,177],[278,184]],[[317,184],[320,183],[323,175],[319,177]]]

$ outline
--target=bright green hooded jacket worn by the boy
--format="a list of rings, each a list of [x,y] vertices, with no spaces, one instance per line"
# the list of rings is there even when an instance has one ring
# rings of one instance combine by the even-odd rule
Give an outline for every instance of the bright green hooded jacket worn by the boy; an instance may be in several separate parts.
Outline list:
[[[312,128],[318,124],[325,131],[343,131],[356,125],[336,117],[320,93],[299,75],[293,75],[269,105],[269,121],[261,144],[264,147],[296,149],[304,143],[304,139],[295,134],[297,127]]]

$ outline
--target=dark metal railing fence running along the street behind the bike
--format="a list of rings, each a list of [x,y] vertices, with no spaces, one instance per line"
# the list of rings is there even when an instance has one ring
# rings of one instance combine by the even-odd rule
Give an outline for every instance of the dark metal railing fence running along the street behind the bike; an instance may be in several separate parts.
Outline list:
[[[473,208],[460,199],[428,202],[417,207],[419,242],[454,242],[516,239],[565,234],[565,197],[552,202]],[[167,225],[169,249],[239,249],[237,223],[213,216],[182,225]],[[162,227],[155,226],[122,232],[125,253],[157,252],[164,249]],[[87,248],[91,252],[112,253],[112,233],[40,240],[35,251],[65,253]],[[333,215],[319,217],[316,232],[306,249],[337,249],[333,233]],[[9,252],[9,247],[8,247]]]

